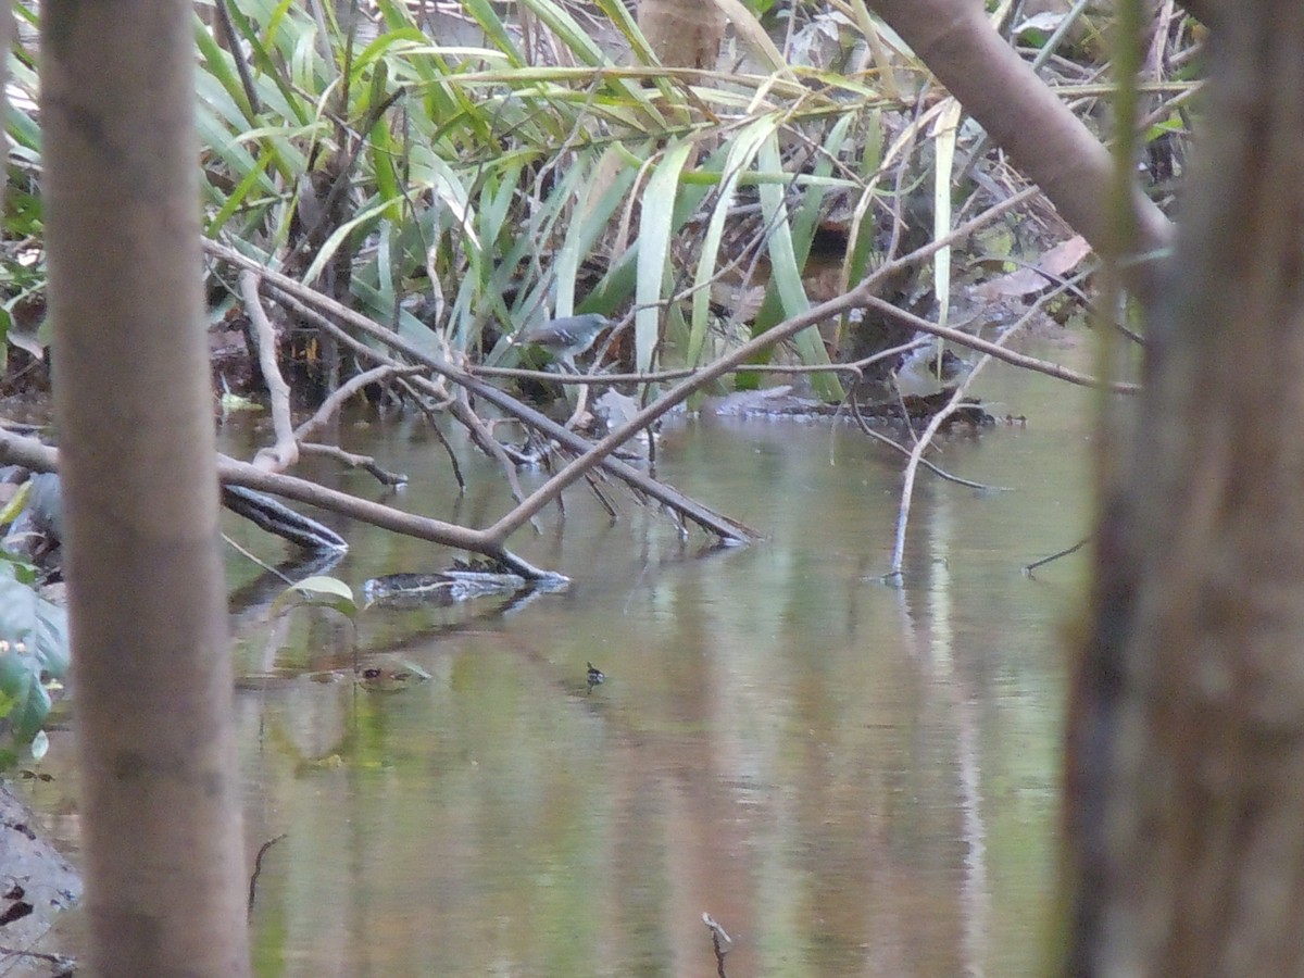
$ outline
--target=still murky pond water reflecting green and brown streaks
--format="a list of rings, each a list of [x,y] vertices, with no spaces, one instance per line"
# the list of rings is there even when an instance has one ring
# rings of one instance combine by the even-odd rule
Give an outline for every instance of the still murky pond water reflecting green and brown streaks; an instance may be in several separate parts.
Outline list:
[[[1093,398],[1000,365],[974,394],[1026,428],[935,460],[1012,490],[921,472],[900,587],[880,575],[901,462],[841,422],[669,424],[657,475],[767,540],[711,550],[621,488],[615,522],[572,489],[512,540],[565,593],[269,619],[232,550],[250,865],[284,836],[258,875],[258,973],[713,975],[703,913],[734,978],[1043,971],[1085,567],[1021,567],[1085,535]],[[228,450],[252,454],[246,425]],[[340,438],[412,477],[403,507],[485,526],[510,502],[460,445],[459,498],[417,421]],[[452,557],[334,526],[355,591]],[[430,679],[368,690],[355,662]]]

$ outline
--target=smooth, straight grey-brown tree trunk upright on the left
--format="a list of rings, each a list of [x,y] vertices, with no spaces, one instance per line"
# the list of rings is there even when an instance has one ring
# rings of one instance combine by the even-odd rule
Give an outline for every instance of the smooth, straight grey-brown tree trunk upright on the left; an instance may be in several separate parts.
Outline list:
[[[46,0],[44,193],[100,975],[249,974],[193,10]]]

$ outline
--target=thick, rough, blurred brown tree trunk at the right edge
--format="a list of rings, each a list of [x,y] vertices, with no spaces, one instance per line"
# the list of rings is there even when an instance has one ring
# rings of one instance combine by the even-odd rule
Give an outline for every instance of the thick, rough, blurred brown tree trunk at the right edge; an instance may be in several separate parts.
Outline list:
[[[1227,13],[1074,677],[1071,974],[1304,974],[1304,7]]]

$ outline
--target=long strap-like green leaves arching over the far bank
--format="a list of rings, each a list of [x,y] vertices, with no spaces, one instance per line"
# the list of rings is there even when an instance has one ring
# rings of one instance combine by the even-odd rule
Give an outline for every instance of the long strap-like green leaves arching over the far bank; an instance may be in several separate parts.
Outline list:
[[[600,8],[632,67],[617,67],[623,53],[600,47],[553,0],[527,7],[574,67],[532,64],[515,29],[481,0],[463,3],[479,44],[429,38],[394,0],[377,4],[373,38],[342,29],[329,4],[323,25],[286,0],[228,7],[244,72],[196,21],[206,233],[309,282],[346,262],[361,310],[432,347],[512,359],[507,340],[531,322],[575,312],[619,318],[636,304],[640,366],[666,355],[668,318],[691,316],[691,349],[675,359],[695,357],[707,338],[699,293],[669,317],[666,303],[739,263],[738,236],[721,223],[739,192],[767,188],[764,223],[745,250],[768,257],[782,313],[803,301],[793,288],[803,246],[790,213],[848,200],[855,207],[875,193],[874,177],[859,176],[857,141],[842,143],[832,172],[818,162],[835,126],[859,128],[852,120],[883,104],[872,87],[815,69],[669,72],[614,0]],[[34,96],[33,63],[18,59],[14,82]],[[9,130],[17,158],[38,173],[34,108],[13,112]],[[339,206],[309,235],[310,213],[336,184]],[[10,193],[9,223],[37,231],[35,200]],[[22,291],[5,293],[5,309]],[[441,314],[419,318],[422,296],[443,299]],[[822,359],[818,343],[798,347]]]

